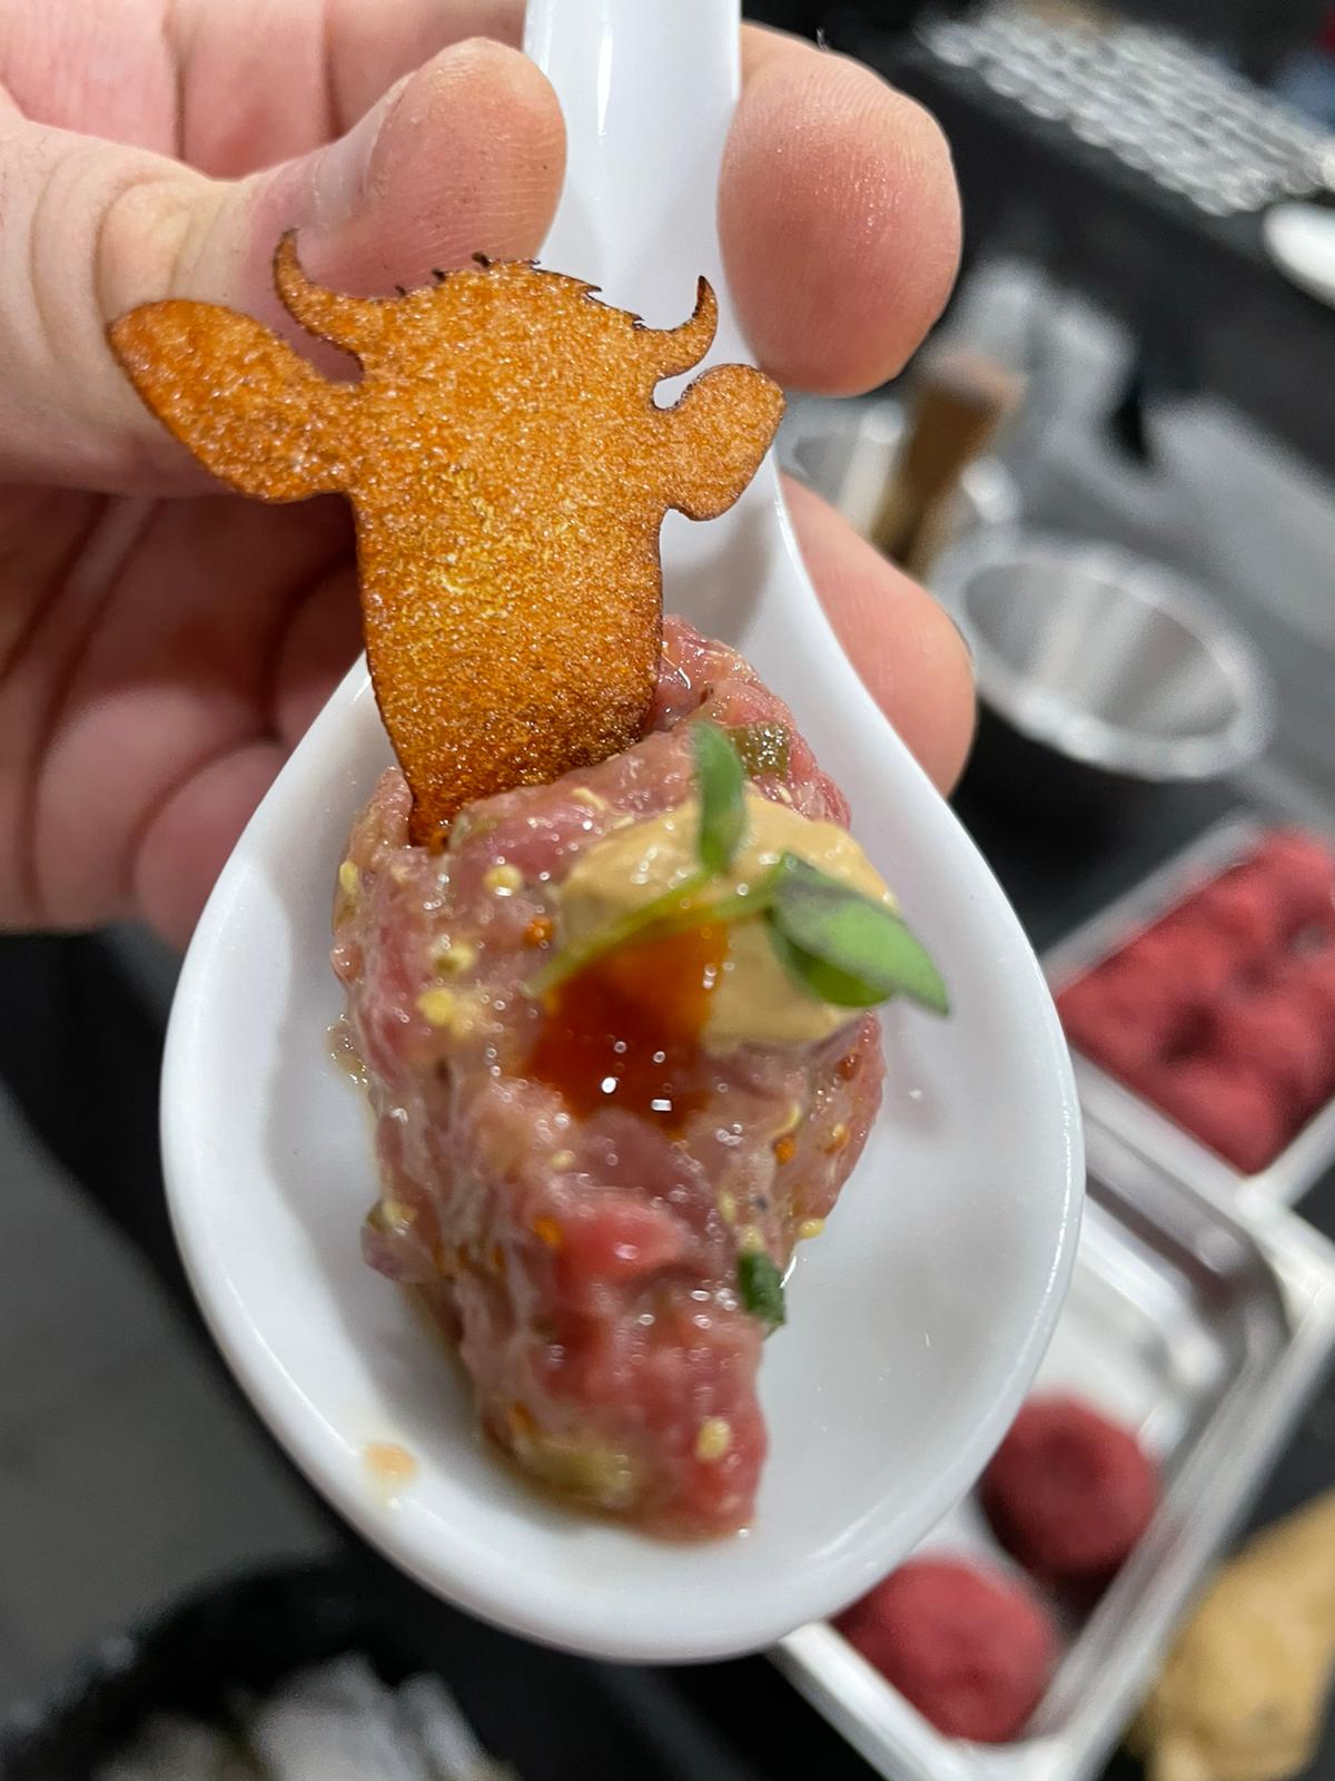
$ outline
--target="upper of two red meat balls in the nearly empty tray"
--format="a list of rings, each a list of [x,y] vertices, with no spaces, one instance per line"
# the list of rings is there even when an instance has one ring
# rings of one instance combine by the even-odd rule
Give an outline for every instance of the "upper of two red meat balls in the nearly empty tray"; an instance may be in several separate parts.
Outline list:
[[[1145,1533],[1159,1475],[1130,1430],[1077,1398],[1032,1398],[983,1473],[1000,1544],[1052,1583],[1107,1580]]]

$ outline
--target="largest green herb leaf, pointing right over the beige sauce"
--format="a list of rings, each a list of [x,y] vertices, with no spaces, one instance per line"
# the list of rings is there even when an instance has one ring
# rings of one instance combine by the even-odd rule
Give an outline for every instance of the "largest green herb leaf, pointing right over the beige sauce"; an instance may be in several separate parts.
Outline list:
[[[789,976],[837,1008],[874,1008],[908,996],[949,1013],[936,965],[885,903],[785,853],[765,912],[769,939]]]

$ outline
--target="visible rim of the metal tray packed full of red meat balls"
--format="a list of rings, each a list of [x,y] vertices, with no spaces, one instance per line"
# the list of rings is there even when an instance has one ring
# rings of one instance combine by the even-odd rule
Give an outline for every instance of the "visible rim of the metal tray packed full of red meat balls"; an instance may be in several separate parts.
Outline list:
[[[1242,816],[1205,830],[1166,866],[1150,873],[1045,955],[1043,971],[1052,988],[1057,990],[1082,976],[1091,965],[1116,953],[1141,928],[1152,926],[1200,885],[1241,860],[1257,846],[1267,826],[1273,825]],[[1072,1061],[1086,1115],[1121,1133],[1145,1156],[1187,1181],[1292,1206],[1335,1161],[1335,1101],[1328,1101],[1267,1168],[1242,1175],[1082,1053],[1072,1049]]]

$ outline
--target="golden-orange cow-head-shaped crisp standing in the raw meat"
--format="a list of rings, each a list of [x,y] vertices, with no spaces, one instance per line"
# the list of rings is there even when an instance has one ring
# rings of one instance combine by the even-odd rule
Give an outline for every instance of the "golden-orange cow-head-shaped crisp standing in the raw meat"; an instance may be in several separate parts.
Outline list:
[[[285,235],[274,278],[360,381],[329,381],[210,303],[142,305],[110,344],[215,476],[263,500],[352,500],[367,655],[413,839],[436,839],[472,798],[634,743],[657,677],[662,516],[730,508],[783,408],[744,365],[655,404],[655,385],[708,351],[708,283],[691,321],[653,329],[529,262],[361,299],[310,283]]]

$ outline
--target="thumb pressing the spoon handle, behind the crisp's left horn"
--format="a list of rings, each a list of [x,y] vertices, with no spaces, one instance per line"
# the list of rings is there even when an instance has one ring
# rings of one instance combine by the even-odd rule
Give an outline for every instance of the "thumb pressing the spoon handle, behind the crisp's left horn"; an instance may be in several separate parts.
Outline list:
[[[164,493],[198,486],[107,347],[137,303],[194,297],[301,331],[271,262],[381,296],[482,251],[538,251],[561,191],[561,110],[490,41],[443,50],[336,142],[244,180],[16,119],[0,126],[0,479]]]

